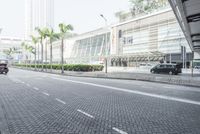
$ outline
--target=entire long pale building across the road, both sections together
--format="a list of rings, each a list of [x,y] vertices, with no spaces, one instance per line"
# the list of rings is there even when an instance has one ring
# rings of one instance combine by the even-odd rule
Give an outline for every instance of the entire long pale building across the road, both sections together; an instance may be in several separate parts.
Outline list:
[[[183,47],[186,48],[184,53]],[[59,45],[54,51],[59,53]],[[105,57],[109,66],[130,67],[161,61],[181,64],[183,59],[189,65],[192,58],[191,49],[171,9],[65,40],[66,63],[103,64]]]

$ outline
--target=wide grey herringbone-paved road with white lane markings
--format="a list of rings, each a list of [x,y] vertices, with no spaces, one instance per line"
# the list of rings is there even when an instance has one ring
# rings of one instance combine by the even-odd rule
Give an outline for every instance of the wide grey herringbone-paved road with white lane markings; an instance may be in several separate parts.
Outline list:
[[[0,75],[3,134],[199,134],[200,89],[11,69]]]

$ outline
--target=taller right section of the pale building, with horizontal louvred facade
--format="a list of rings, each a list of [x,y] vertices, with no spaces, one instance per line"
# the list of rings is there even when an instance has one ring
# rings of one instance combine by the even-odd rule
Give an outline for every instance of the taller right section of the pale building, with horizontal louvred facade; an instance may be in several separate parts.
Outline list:
[[[160,60],[181,63],[181,46],[186,47],[186,61],[192,58],[171,9],[114,25],[112,30],[111,62],[116,66],[138,66],[138,62]]]

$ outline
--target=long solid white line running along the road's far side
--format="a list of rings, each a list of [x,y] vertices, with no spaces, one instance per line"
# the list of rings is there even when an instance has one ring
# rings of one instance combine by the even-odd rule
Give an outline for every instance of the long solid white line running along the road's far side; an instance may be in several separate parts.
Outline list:
[[[89,82],[81,82],[81,81],[74,81],[74,80],[67,80],[67,79],[53,78],[53,77],[51,77],[51,78],[56,79],[56,80],[61,80],[61,81],[67,81],[67,82],[73,82],[73,83],[78,83],[78,84],[83,84],[83,85],[107,88],[107,89],[112,89],[112,90],[116,90],[116,91],[122,91],[122,92],[127,92],[127,93],[133,93],[133,94],[138,94],[138,95],[143,95],[143,96],[149,96],[149,97],[154,97],[154,98],[159,98],[159,99],[164,99],[164,100],[171,100],[171,101],[183,102],[183,103],[200,106],[199,101],[193,101],[193,100],[189,100],[189,99],[182,99],[182,98],[176,98],[176,97],[170,97],[170,96],[164,96],[164,95],[145,93],[145,92],[141,92],[141,91],[134,91],[134,90],[130,90],[130,89],[111,87],[111,86],[100,85],[100,84],[89,83]]]

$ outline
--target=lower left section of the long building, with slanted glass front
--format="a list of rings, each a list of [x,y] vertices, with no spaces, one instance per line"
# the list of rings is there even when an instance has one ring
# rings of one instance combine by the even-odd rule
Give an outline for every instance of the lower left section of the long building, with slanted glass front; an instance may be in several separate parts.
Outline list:
[[[103,58],[110,55],[110,31],[106,28],[97,29],[82,35],[66,39],[64,58],[69,64],[101,64]],[[55,42],[53,53],[60,59],[60,42]]]

